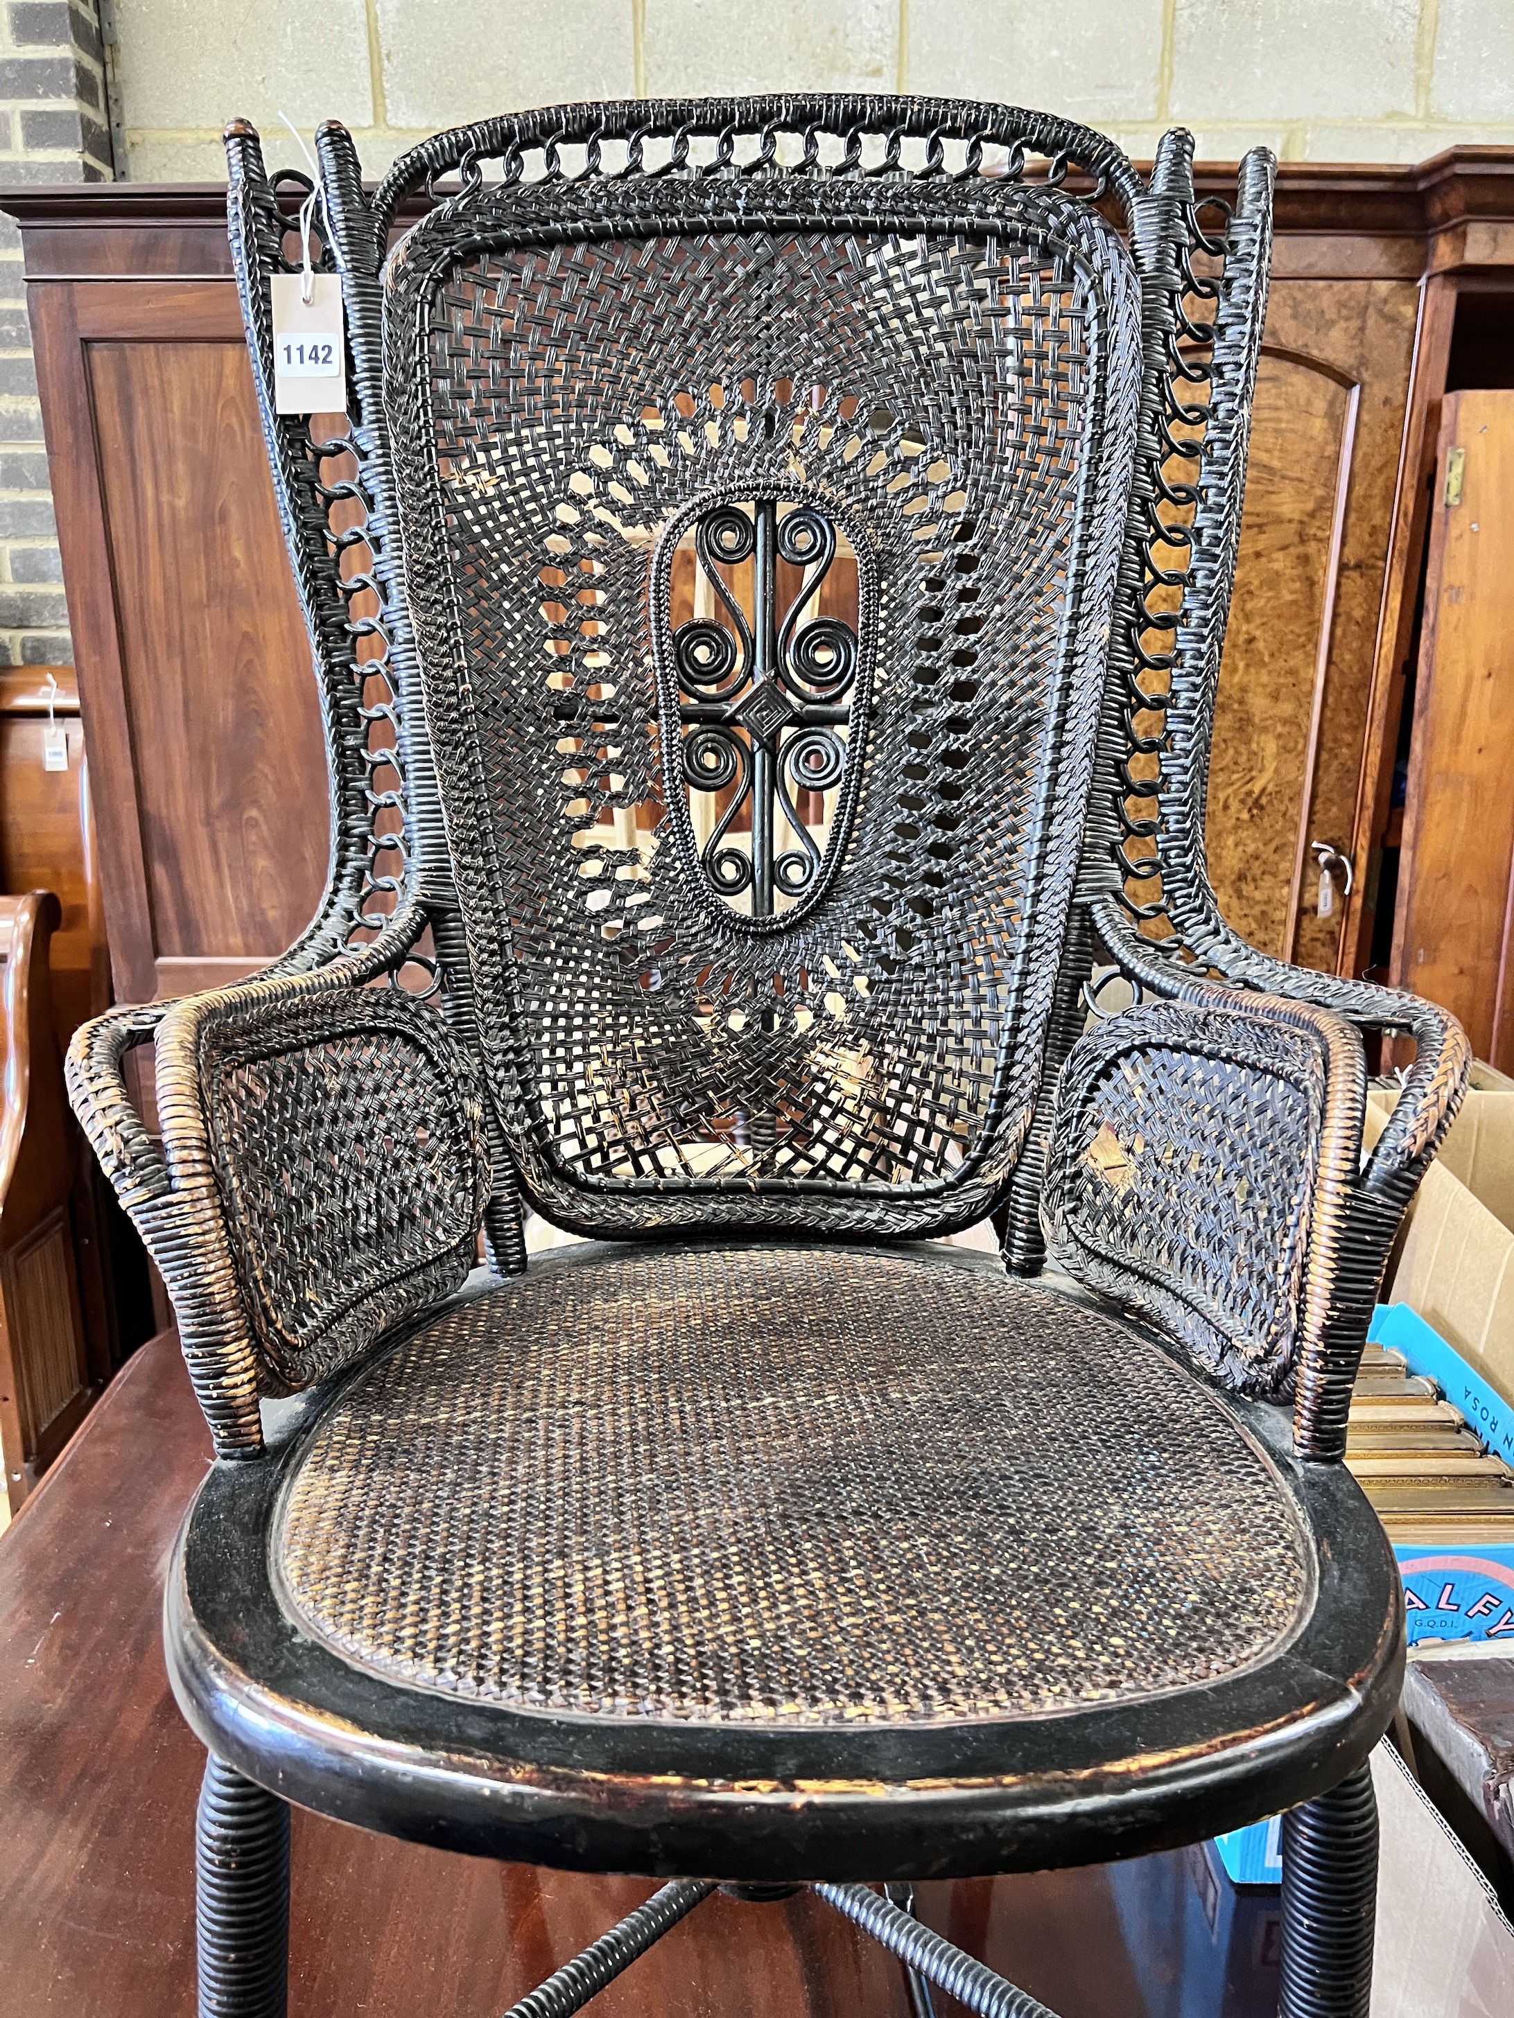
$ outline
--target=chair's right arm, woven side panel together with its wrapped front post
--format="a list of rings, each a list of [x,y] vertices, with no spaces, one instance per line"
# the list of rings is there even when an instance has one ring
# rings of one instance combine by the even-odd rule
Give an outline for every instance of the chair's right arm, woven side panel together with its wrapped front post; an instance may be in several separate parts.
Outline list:
[[[1361,1170],[1367,1068],[1344,1017],[1203,981],[1108,1017],[1058,1084],[1052,1259],[1227,1386],[1292,1390],[1300,1455],[1338,1457],[1389,1247],[1466,1080],[1451,1053],[1383,1185]]]

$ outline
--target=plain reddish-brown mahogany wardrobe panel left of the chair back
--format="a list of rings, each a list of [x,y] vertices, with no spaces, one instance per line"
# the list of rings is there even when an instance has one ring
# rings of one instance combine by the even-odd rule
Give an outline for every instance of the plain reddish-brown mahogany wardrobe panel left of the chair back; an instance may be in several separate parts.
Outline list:
[[[246,351],[95,341],[89,383],[153,952],[273,959],[315,910],[329,817]]]

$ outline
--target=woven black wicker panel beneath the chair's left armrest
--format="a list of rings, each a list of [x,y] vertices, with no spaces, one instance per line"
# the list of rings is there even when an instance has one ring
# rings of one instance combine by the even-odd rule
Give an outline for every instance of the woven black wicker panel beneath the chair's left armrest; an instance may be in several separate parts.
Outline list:
[[[375,989],[212,1019],[202,1045],[258,1382],[295,1392],[472,1267],[482,1100],[442,1019]]]

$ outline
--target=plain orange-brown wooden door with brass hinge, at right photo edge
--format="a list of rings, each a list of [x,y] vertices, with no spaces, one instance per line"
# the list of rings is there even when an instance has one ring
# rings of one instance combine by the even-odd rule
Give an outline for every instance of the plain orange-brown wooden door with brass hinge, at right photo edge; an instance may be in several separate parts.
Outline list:
[[[1514,1072],[1514,391],[1441,410],[1393,981]]]

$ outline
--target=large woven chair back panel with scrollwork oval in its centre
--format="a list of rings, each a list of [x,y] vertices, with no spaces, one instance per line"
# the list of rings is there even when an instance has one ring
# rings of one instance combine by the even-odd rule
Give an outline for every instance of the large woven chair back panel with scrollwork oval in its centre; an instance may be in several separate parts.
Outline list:
[[[1139,317],[1096,216],[1001,212],[402,262],[484,1055],[561,1223],[923,1233],[1013,1170]]]

